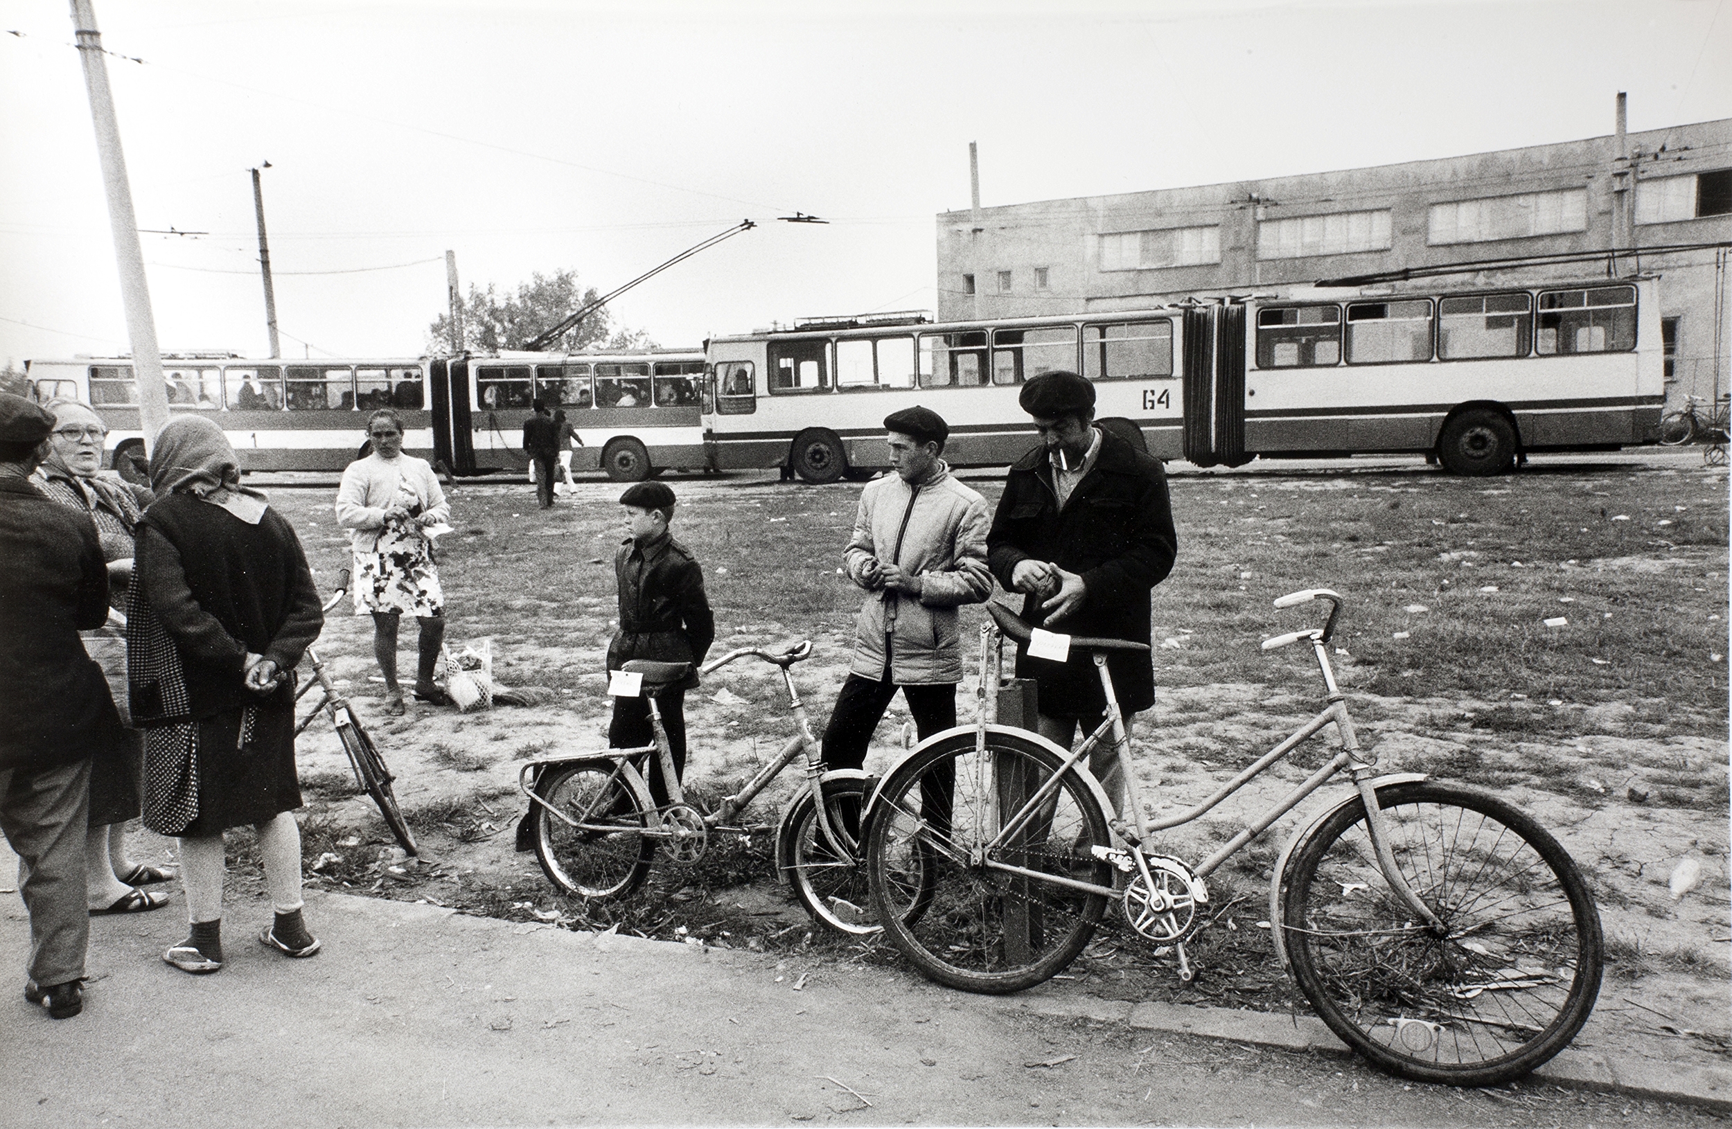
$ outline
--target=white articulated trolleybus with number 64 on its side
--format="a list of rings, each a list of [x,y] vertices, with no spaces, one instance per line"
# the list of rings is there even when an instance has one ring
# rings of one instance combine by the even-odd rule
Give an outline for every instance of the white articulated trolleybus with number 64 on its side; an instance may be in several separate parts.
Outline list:
[[[1095,383],[1160,459],[1424,454],[1498,474],[1528,452],[1658,440],[1652,279],[1451,289],[1313,289],[1148,310],[927,324],[797,322],[707,345],[703,433],[717,469],[807,481],[889,466],[883,417],[923,403],[953,466],[1032,443],[1017,386],[1048,369]]]

